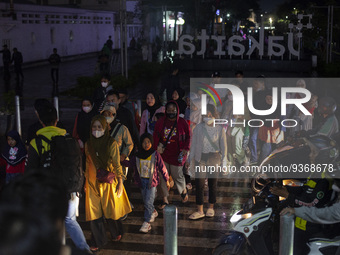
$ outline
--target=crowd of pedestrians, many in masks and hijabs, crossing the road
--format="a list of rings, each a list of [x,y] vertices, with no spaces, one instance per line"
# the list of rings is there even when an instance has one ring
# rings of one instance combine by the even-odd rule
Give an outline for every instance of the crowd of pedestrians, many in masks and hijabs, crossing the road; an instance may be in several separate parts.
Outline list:
[[[174,70],[172,76],[177,72]],[[174,79],[176,78],[171,77],[171,80]],[[220,73],[214,72],[210,85],[214,86],[219,82]],[[235,73],[234,85],[243,91],[247,87],[253,87],[253,103],[256,109],[265,110],[273,104],[272,91],[263,76],[254,79],[252,84],[247,84],[243,80],[242,71],[238,71]],[[298,80],[296,86],[306,88],[307,84],[304,80]],[[51,167],[54,162],[53,157],[48,161],[44,156],[51,150],[51,141],[54,137],[65,136],[67,132],[58,121],[53,105],[47,99],[36,100],[34,108],[38,120],[29,128],[26,142],[22,142],[16,131],[9,132],[0,158],[0,164],[6,167],[8,183],[4,191],[6,199],[3,199],[8,200],[8,208],[1,211],[0,216],[11,214],[10,205],[16,204],[11,220],[6,223],[6,233],[10,233],[8,231],[15,227],[19,215],[24,214],[24,211],[38,211],[39,215],[46,214],[46,219],[45,216],[39,219],[32,215],[31,223],[24,217],[20,219],[25,221],[22,224],[34,225],[49,221],[51,229],[48,229],[50,225],[45,224],[44,231],[52,233],[52,226],[57,225],[54,230],[58,239],[58,233],[60,235],[63,231],[60,225],[65,223],[66,231],[79,251],[89,254],[96,252],[109,241],[105,225],[108,226],[112,241],[120,241],[124,237],[122,221],[133,210],[129,195],[134,184],[141,188],[145,209],[140,232],[148,233],[158,216],[157,210],[163,210],[170,203],[171,187],[177,190],[181,202],[187,203],[189,190],[194,184],[197,210],[189,216],[190,220],[214,217],[218,178],[212,178],[208,173],[195,173],[194,165],[259,164],[286,140],[285,136],[298,133],[331,137],[338,132],[338,121],[334,115],[336,102],[329,97],[318,99],[313,95],[304,104],[312,114],[310,116],[303,115],[296,107],[289,108],[287,116],[298,123],[294,128],[285,129],[280,125],[280,119],[284,116],[281,116],[279,109],[270,116],[265,116],[274,120],[270,126],[215,126],[214,120],[219,118],[242,122],[250,118],[262,119],[263,116],[254,115],[248,109],[245,109],[244,115],[233,114],[231,91],[222,98],[222,105],[216,107],[209,103],[206,114],[202,115],[201,96],[205,93],[204,90],[198,89],[185,95],[179,83],[173,83],[166,89],[165,104],[161,103],[158,93],[146,93],[145,109],[139,116],[137,105],[129,100],[128,91],[114,90],[110,84],[110,76],[105,74],[94,94],[81,101],[72,137],[79,144],[85,171],[85,214],[92,233],[89,245],[76,221],[81,192],[60,190],[58,184],[41,171]],[[298,93],[290,95],[290,98],[301,97]],[[317,124],[313,123],[315,109],[320,115]],[[104,178],[100,173],[104,173]],[[49,186],[51,182],[53,185]],[[206,212],[203,208],[205,187],[209,190],[209,206]],[[43,191],[43,195],[39,194],[39,189]],[[36,193],[32,193],[33,191]],[[273,193],[288,197],[282,190],[274,190]],[[60,196],[54,198],[58,194]],[[161,202],[155,207],[157,196]],[[40,209],[40,204],[45,202]],[[57,213],[58,215],[54,215]],[[41,235],[43,233],[45,232]],[[46,237],[39,238],[44,240]],[[59,243],[61,245],[60,240]],[[33,246],[32,243],[32,250],[43,249],[43,246]],[[8,247],[0,245],[0,250],[6,248]],[[77,254],[76,250],[72,254]]]

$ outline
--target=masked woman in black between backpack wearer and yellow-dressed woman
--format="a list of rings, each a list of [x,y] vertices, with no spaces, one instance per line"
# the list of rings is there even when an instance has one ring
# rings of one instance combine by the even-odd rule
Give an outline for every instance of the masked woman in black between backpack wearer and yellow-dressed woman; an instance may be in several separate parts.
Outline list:
[[[77,114],[73,126],[72,136],[79,142],[81,150],[84,152],[84,145],[90,137],[90,124],[92,118],[96,115],[93,109],[93,101],[89,97],[81,101],[81,111]]]

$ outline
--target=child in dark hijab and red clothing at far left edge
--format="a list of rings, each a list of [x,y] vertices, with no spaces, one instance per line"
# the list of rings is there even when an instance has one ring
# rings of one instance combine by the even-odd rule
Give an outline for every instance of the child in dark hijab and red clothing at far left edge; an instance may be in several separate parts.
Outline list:
[[[23,175],[27,150],[19,133],[12,130],[7,133],[7,144],[2,150],[0,166],[6,166],[6,184]]]

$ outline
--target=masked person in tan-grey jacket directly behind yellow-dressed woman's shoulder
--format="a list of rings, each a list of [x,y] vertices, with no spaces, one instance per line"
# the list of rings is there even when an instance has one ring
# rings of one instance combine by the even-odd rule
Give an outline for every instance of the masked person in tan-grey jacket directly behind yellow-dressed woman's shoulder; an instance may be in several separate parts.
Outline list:
[[[123,168],[126,168],[127,162],[129,160],[129,155],[133,149],[133,141],[129,130],[126,126],[121,124],[116,120],[116,108],[113,106],[105,106],[101,112],[109,124],[109,133],[118,143],[119,153],[120,153],[120,163]],[[126,175],[126,169],[125,169]]]

